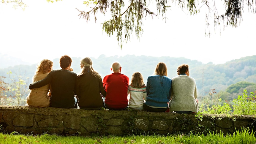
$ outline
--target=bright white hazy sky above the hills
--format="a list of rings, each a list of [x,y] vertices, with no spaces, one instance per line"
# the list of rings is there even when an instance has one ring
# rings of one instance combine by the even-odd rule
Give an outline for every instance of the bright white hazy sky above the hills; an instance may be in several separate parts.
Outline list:
[[[83,0],[54,1],[53,4],[46,0],[23,2],[28,5],[25,11],[14,10],[12,4],[0,4],[0,54],[31,63],[44,58],[53,60],[65,54],[94,58],[101,54],[130,54],[185,57],[205,64],[222,64],[256,54],[256,15],[252,13],[245,12],[238,28],[228,26],[223,31],[220,26],[214,33],[212,27],[209,38],[205,36],[204,12],[190,16],[173,6],[168,10],[166,22],[161,16],[154,20],[147,16],[143,20],[144,32],[140,40],[134,35],[131,42],[123,42],[121,50],[115,35],[108,37],[102,32],[101,23],[108,16],[99,16],[96,23],[92,15],[88,23],[79,19],[75,8],[86,11]]]

